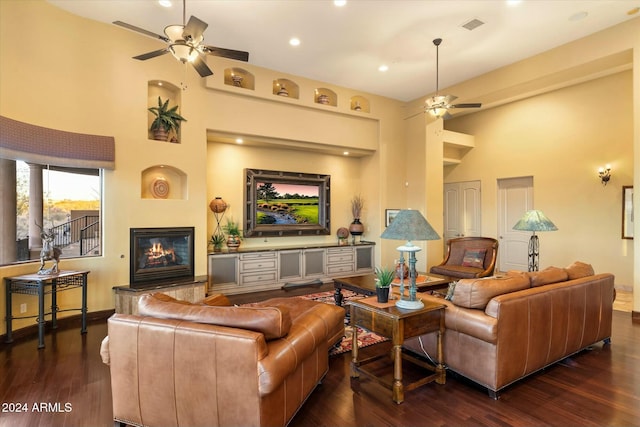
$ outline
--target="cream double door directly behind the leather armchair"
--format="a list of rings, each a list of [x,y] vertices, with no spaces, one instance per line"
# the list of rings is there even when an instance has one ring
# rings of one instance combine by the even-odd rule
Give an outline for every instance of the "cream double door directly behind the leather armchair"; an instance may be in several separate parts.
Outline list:
[[[480,181],[444,184],[444,243],[481,235]]]

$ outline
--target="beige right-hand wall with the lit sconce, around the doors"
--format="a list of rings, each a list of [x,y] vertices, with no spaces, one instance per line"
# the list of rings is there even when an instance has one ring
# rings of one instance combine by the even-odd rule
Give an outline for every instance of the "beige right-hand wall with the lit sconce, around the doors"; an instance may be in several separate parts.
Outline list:
[[[481,181],[482,231],[496,237],[497,181],[532,176],[534,208],[558,227],[540,233],[540,267],[584,261],[631,289],[633,241],[621,239],[621,220],[622,186],[633,183],[632,108],[623,71],[450,120],[447,129],[475,135],[476,147],[445,168],[445,182]],[[597,170],[606,163],[605,187]]]

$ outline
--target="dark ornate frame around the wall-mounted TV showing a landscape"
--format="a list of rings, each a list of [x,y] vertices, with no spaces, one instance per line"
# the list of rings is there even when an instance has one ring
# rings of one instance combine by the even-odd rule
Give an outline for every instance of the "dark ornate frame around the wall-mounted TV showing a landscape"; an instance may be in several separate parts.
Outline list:
[[[245,169],[245,211],[244,211],[244,236],[245,237],[278,237],[278,236],[312,236],[331,234],[330,206],[331,206],[331,176],[310,174],[301,172],[282,172],[263,169]],[[272,223],[258,222],[258,213],[266,211],[266,207],[258,206],[261,198],[258,195],[258,187],[263,184],[278,184],[287,189],[287,186],[308,186],[317,189],[317,222],[296,223]],[[315,203],[314,203],[315,204]],[[291,205],[287,203],[286,205]],[[285,206],[285,209],[293,206]],[[277,209],[270,206],[271,209]],[[282,211],[282,213],[286,213]]]

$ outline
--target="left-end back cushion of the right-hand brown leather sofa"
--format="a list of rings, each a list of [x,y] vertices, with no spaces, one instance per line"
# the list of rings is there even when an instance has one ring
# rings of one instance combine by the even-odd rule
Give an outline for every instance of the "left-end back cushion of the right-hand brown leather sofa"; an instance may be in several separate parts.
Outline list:
[[[460,279],[453,291],[451,302],[459,307],[484,310],[491,298],[528,287],[529,279],[525,275]]]

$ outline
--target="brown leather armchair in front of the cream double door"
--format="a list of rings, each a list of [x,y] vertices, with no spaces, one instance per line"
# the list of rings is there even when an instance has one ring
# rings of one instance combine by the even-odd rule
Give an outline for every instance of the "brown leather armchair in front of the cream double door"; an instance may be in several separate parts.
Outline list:
[[[431,273],[460,279],[493,275],[498,257],[498,241],[491,237],[458,237],[447,241],[444,261]]]

